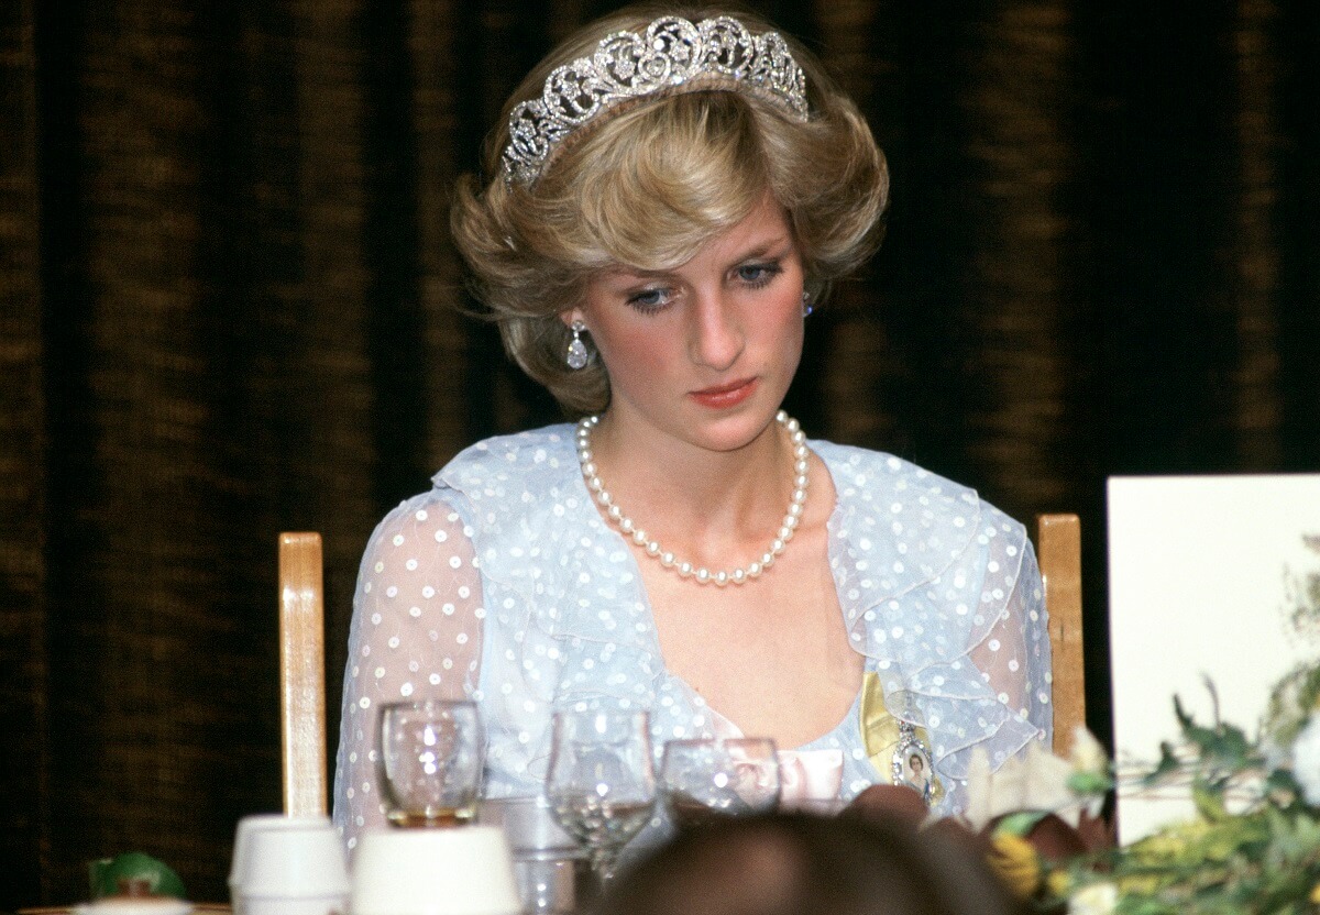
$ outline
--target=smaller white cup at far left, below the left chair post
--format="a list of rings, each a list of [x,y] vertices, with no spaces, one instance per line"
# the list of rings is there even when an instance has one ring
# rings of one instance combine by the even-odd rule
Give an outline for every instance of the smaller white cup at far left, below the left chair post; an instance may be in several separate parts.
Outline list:
[[[234,838],[235,915],[327,915],[348,900],[343,844],[327,817],[244,817]]]

